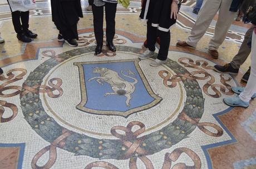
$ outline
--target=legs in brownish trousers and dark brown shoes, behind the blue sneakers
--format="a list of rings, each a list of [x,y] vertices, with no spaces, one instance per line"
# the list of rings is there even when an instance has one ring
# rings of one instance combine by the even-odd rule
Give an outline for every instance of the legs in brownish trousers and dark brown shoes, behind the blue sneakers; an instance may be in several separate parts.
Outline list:
[[[250,35],[252,35],[254,26],[252,26],[250,29],[247,30],[247,32],[244,35],[243,43],[241,44],[241,47],[235,55],[235,57],[232,59],[232,61],[225,65],[214,65],[214,70],[218,71],[219,73],[228,73],[237,75],[239,72],[240,65],[242,65],[245,60],[249,57],[250,54],[250,48],[247,45],[247,42],[250,38]],[[243,75],[242,80],[247,82],[250,76],[250,68],[247,70],[247,72]]]

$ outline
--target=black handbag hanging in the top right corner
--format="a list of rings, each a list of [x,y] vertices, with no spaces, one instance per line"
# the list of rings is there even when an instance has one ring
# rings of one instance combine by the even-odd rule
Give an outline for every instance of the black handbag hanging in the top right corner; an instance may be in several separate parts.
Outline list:
[[[256,24],[256,0],[244,0],[240,10],[244,13],[244,23]]]

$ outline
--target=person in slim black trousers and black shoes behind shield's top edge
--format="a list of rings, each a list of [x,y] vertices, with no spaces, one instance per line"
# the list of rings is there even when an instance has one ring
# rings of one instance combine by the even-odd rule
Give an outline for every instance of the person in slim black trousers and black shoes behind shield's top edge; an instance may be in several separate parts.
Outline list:
[[[101,53],[103,46],[104,6],[106,13],[106,45],[112,52],[116,52],[116,47],[113,44],[113,39],[115,37],[115,17],[117,0],[94,0],[92,4],[92,13],[94,33],[97,42],[97,46],[95,48],[96,55]]]

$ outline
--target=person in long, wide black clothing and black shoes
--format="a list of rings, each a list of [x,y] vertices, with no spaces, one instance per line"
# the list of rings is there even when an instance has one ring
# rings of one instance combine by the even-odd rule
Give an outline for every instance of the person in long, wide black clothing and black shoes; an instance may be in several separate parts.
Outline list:
[[[77,23],[83,17],[80,0],[52,0],[52,21],[59,30],[58,41],[77,47]]]

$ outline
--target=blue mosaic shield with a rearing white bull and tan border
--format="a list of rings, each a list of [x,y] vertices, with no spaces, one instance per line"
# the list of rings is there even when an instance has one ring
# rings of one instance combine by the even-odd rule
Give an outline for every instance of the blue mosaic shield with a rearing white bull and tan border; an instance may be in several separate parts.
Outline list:
[[[80,73],[79,110],[127,117],[162,100],[147,83],[139,59],[74,64]]]

